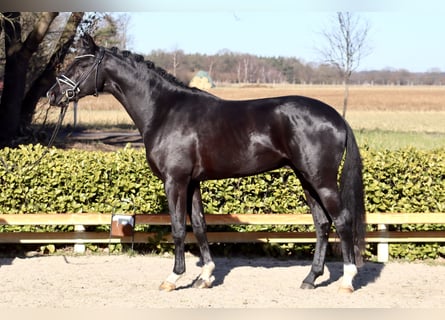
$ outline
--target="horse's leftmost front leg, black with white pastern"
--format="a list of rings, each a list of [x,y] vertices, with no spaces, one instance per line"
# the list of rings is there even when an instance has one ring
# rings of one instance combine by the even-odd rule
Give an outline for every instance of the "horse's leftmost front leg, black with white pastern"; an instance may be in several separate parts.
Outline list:
[[[172,179],[164,182],[170,211],[173,242],[175,245],[175,264],[173,272],[160,285],[163,291],[176,289],[176,281],[185,273],[185,236],[187,212],[187,183],[178,183]]]

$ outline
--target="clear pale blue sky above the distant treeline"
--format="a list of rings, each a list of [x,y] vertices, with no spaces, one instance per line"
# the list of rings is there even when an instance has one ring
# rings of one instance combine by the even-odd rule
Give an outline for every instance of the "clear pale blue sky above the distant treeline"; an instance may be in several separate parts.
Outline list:
[[[344,8],[301,9],[283,1],[287,6],[255,9],[233,4],[213,9],[196,5],[129,12],[129,49],[142,54],[157,49],[216,54],[227,49],[322,62],[317,48],[325,45],[326,40],[321,32],[335,26],[336,11]],[[388,6],[391,1],[379,7],[346,7],[369,25],[368,55],[358,70],[445,71],[445,1],[439,1],[435,7],[409,6],[409,1],[401,2],[404,6],[395,5],[394,1]]]

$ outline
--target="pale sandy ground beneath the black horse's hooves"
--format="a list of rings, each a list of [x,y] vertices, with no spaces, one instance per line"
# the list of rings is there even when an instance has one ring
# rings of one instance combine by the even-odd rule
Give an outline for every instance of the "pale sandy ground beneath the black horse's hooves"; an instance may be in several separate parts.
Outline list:
[[[159,284],[171,256],[36,256],[0,258],[3,308],[443,308],[445,264],[367,262],[356,291],[338,294],[342,264],[328,262],[315,290],[301,290],[309,261],[216,258],[211,289],[191,287],[199,259],[188,255],[187,273],[174,292]]]

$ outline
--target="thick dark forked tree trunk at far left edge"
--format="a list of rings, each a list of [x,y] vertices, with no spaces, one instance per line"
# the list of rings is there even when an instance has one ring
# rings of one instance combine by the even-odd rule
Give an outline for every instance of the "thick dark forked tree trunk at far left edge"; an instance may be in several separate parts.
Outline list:
[[[6,17],[14,18],[14,21],[4,25],[6,63],[0,104],[0,147],[12,145],[14,138],[19,134],[29,60],[32,54],[37,51],[51,22],[57,15],[57,12],[42,13],[34,29],[22,43],[20,13],[5,13]]]

